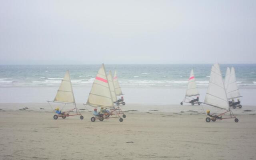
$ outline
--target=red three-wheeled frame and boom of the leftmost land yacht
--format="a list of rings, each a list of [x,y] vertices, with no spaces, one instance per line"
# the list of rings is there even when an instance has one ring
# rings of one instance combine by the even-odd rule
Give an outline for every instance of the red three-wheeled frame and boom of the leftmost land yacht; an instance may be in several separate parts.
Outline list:
[[[48,102],[48,104],[50,105],[50,102],[54,102],[54,101],[47,101],[47,102]],[[55,102],[56,102],[56,101],[55,101]],[[63,102],[57,102],[57,103],[63,103]],[[64,104],[66,105],[66,104],[74,104],[74,103],[64,103]],[[54,119],[54,120],[57,120],[59,117],[65,119],[66,117],[69,117],[69,116],[79,116],[79,115],[80,115],[80,119],[83,120],[83,119],[84,119],[84,116],[82,116],[82,114],[80,113],[80,111],[78,110],[78,108],[76,108],[76,104],[74,104],[74,105],[75,105],[75,108],[72,108],[72,109],[70,109],[70,110],[68,110],[68,111],[66,111],[66,112],[62,112],[61,114],[55,114],[55,115],[53,116],[53,119]],[[51,106],[51,105],[50,105],[50,106]],[[52,108],[52,106],[51,106],[51,108]],[[54,109],[52,108],[52,110],[54,110]],[[73,113],[70,114],[70,112],[74,112],[74,110],[76,110],[75,113],[74,113],[74,114],[73,114]]]

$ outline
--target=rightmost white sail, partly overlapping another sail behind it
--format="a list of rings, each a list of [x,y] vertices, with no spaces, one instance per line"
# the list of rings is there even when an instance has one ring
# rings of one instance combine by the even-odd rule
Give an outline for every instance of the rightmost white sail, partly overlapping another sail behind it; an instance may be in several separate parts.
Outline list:
[[[236,73],[234,67],[231,68],[230,78],[228,80],[228,87],[226,88],[228,99],[234,99],[240,96],[238,86],[236,84]]]

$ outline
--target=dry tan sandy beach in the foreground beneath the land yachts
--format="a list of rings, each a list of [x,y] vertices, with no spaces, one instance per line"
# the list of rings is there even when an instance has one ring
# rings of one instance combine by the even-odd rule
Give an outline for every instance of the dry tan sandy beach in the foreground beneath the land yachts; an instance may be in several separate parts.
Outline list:
[[[24,107],[28,109],[20,110]],[[134,108],[138,111],[131,111]],[[154,108],[159,111],[150,111]],[[166,108],[170,110],[162,112]],[[87,110],[81,110],[84,120],[78,116],[54,120],[47,104],[2,103],[0,109],[2,160],[256,158],[253,106],[234,110],[238,123],[234,119],[207,123],[200,106],[126,105],[122,123],[118,118],[90,122]]]

